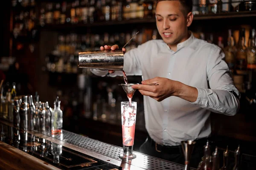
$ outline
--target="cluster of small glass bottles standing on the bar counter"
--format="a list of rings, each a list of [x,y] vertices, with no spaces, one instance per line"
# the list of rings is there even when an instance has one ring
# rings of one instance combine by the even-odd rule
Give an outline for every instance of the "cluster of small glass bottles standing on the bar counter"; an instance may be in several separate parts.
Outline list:
[[[35,103],[35,104],[34,104]],[[48,102],[39,101],[39,95],[16,96],[15,86],[3,95],[1,92],[0,118],[13,123],[20,130],[35,130],[52,134],[61,133],[62,110],[58,97],[52,109]]]

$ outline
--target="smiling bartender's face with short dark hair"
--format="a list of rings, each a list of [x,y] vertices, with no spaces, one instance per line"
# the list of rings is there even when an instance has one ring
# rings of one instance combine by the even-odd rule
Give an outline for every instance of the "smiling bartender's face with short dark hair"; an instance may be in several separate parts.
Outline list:
[[[178,0],[164,0],[157,3],[157,29],[163,41],[168,45],[176,45],[186,38],[187,19],[182,9]]]

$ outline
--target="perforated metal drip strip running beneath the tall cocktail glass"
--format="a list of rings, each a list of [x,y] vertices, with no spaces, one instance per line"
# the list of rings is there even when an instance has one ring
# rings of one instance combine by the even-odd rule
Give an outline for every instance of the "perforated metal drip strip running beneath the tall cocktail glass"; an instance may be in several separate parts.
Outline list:
[[[50,135],[49,133],[43,134]],[[61,141],[65,141],[75,146],[121,161],[121,159],[118,156],[123,151],[122,147],[106,144],[102,141],[97,141],[66,130],[63,130],[62,134],[50,136],[52,138],[57,138]],[[183,170],[183,166],[180,164],[174,164],[169,161],[164,161],[162,159],[146,156],[144,154],[137,152],[134,153],[137,156],[137,158],[131,161],[131,164],[134,166],[141,167],[146,170]]]

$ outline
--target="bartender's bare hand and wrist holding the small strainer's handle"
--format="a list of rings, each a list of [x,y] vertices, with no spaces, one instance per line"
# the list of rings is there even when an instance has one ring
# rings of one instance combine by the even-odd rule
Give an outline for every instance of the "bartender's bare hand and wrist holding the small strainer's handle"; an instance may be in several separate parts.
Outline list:
[[[195,87],[187,86],[179,81],[168,78],[152,78],[141,82],[142,84],[133,85],[133,89],[138,89],[142,95],[147,95],[157,101],[163,101],[170,96],[177,96],[187,101],[194,102],[198,97],[198,90]],[[146,84],[159,84],[149,86]]]

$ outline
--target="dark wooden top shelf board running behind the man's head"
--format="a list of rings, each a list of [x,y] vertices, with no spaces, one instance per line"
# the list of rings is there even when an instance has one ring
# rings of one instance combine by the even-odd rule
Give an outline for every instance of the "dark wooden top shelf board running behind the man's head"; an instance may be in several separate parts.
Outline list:
[[[215,20],[215,19],[228,19],[228,18],[244,18],[244,17],[256,17],[256,11],[244,11],[244,12],[227,12],[221,14],[198,14],[194,16],[194,20]],[[121,21],[102,21],[95,23],[77,23],[77,24],[46,24],[45,26],[39,26],[41,29],[72,29],[79,27],[96,27],[96,26],[118,26],[127,24],[140,24],[140,23],[155,23],[156,19],[143,18],[143,19],[130,19]]]

